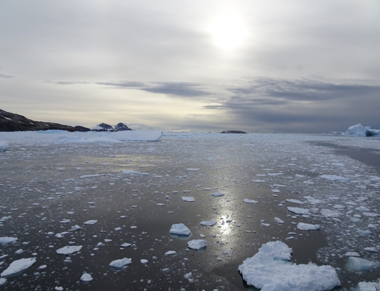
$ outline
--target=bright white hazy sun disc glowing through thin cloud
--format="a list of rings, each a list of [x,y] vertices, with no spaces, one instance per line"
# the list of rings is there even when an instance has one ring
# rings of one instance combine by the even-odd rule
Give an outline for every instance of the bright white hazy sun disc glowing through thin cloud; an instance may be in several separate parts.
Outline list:
[[[211,23],[209,32],[214,44],[225,50],[242,47],[248,34],[242,19],[234,14],[217,16]]]

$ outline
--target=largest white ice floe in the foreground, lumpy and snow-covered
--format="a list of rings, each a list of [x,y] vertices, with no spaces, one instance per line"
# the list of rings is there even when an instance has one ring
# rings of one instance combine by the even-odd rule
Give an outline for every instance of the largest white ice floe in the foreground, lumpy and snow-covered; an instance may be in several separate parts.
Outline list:
[[[248,285],[262,291],[322,291],[341,285],[331,266],[297,265],[289,261],[291,257],[292,249],[285,243],[267,242],[238,270]]]

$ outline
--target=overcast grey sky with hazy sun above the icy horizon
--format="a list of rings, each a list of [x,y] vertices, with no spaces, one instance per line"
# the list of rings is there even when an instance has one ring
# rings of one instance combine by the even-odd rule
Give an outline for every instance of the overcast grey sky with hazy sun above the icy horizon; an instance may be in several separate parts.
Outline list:
[[[0,109],[93,127],[380,129],[379,0],[0,1]]]

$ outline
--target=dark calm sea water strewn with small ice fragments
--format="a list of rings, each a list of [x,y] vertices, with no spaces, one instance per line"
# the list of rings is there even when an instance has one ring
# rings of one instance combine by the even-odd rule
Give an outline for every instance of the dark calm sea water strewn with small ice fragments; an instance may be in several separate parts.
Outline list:
[[[380,277],[378,269],[352,268],[360,263],[346,256],[378,266],[379,172],[305,143],[379,149],[378,140],[172,135],[84,145],[0,135],[9,143],[0,153],[0,237],[7,242],[0,272],[19,259],[36,260],[1,288],[246,290],[238,266],[277,240],[293,248],[297,264],[336,268],[342,288]],[[244,202],[252,200],[258,203]],[[191,235],[169,234],[180,223]],[[187,247],[199,237],[207,246]],[[70,246],[82,248],[57,253]],[[131,263],[110,267],[123,258]]]

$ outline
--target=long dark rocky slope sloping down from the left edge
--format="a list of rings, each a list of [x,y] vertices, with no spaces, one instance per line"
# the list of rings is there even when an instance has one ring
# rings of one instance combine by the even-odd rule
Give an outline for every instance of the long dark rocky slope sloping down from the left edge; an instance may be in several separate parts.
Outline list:
[[[59,129],[67,131],[89,131],[82,126],[68,126],[53,122],[42,122],[28,119],[25,116],[0,109],[0,131],[36,131]]]

